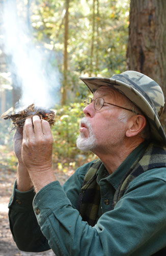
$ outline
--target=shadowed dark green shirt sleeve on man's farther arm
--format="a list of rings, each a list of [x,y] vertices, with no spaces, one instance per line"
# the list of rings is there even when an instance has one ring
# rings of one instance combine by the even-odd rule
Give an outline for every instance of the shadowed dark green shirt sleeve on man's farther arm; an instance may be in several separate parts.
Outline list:
[[[25,192],[17,190],[15,181],[8,206],[9,223],[13,240],[20,250],[39,252],[49,250],[50,247],[34,214],[34,196],[34,189]]]

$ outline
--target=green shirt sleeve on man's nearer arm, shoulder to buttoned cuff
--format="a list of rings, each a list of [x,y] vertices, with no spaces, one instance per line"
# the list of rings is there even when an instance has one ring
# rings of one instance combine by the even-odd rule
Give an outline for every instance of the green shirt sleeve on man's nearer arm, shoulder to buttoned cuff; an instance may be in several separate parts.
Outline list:
[[[57,256],[152,255],[165,246],[165,189],[164,178],[140,175],[94,227],[82,221],[58,181],[36,194],[33,207]]]

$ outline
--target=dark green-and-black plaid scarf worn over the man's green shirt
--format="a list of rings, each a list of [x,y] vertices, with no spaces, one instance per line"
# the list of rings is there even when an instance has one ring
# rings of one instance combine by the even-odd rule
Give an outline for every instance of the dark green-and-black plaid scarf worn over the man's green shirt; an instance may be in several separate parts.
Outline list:
[[[93,162],[84,178],[81,187],[81,193],[77,200],[77,210],[82,220],[87,221],[89,225],[94,226],[98,216],[100,205],[100,186],[97,184],[97,171],[102,162],[98,159]],[[116,193],[114,195],[114,207],[124,195],[129,183],[137,176],[153,168],[166,167],[166,152],[163,147],[149,144],[146,151],[135,160],[126,175],[123,177]],[[166,255],[166,254],[165,254]]]

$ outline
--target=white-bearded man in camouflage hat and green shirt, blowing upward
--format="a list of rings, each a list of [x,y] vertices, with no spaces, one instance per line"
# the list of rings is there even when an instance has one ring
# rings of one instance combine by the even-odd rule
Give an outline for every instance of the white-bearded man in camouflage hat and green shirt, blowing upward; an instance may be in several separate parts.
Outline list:
[[[99,159],[80,166],[62,187],[51,168],[48,122],[26,119],[23,135],[14,136],[14,240],[20,250],[51,248],[57,256],[166,255],[162,90],[135,71],[80,79],[93,99],[85,100],[77,146]]]

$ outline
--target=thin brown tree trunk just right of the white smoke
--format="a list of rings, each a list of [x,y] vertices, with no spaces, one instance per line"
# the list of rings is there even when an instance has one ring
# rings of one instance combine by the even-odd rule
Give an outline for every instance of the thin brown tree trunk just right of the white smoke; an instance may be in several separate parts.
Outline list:
[[[68,71],[68,35],[69,35],[69,0],[66,0],[66,14],[65,14],[65,37],[64,37],[64,80],[63,87],[61,88],[62,100],[61,103],[66,103],[67,96],[67,71]]]

